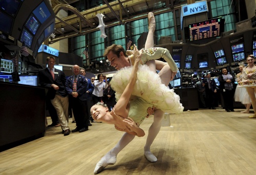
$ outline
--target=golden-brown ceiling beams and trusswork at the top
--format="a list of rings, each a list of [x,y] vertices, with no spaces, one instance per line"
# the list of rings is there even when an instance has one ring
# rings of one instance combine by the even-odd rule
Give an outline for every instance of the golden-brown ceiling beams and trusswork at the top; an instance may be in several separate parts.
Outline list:
[[[55,14],[60,10],[70,11],[67,17],[57,17],[55,19],[55,32],[54,38],[51,37],[49,43],[54,43],[61,39],[66,39],[74,36],[84,35],[99,30],[99,18],[97,13],[104,14],[105,28],[123,25],[129,21],[138,20],[147,17],[148,12],[160,14],[169,12],[180,6],[181,0],[117,0],[108,2],[103,0],[94,8],[79,12],[76,8],[72,7],[72,3],[79,0],[54,0],[52,6]],[[53,2],[55,5],[53,5]],[[182,1],[183,4],[186,1]],[[129,11],[129,12],[128,12]]]

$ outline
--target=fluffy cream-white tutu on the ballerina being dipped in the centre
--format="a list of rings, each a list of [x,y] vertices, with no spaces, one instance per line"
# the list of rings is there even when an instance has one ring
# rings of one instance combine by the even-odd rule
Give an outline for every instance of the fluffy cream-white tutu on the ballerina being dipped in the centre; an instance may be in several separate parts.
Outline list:
[[[133,67],[122,68],[113,76],[111,87],[116,91],[116,100],[120,98],[129,83],[132,69]],[[147,65],[139,65],[132,95],[141,97],[147,103],[153,104],[166,113],[179,114],[184,109],[180,103],[180,97],[175,94],[174,90],[170,90],[162,84],[160,76],[150,71]],[[131,96],[131,100],[135,99],[133,96]]]

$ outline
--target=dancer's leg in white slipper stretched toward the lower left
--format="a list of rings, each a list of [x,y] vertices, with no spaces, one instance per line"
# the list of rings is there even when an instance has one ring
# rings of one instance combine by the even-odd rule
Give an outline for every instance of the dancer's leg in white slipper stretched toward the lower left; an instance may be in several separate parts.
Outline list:
[[[114,148],[112,148],[104,157],[100,159],[100,161],[96,164],[94,169],[94,174],[102,171],[108,165],[114,165],[116,163],[116,156],[117,154],[133,139],[134,135],[124,133],[120,141],[116,144]]]

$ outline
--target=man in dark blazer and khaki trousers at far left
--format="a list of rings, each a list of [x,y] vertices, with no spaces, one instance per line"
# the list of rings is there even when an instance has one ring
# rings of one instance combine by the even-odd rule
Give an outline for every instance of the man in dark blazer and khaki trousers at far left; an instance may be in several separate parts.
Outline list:
[[[47,98],[54,106],[62,134],[70,134],[69,123],[69,97],[65,88],[66,76],[63,71],[54,68],[55,58],[47,57],[48,68],[39,71],[39,82],[41,86],[49,88]]]

